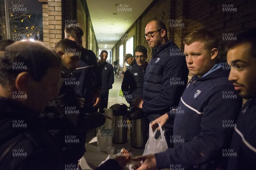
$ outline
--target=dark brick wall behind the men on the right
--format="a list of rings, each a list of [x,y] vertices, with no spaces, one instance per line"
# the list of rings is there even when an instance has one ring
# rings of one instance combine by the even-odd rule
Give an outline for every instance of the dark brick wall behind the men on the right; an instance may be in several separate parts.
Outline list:
[[[256,26],[256,1],[254,0],[154,0],[153,5],[144,11],[142,16],[131,27],[136,27],[134,46],[144,45],[148,50],[148,60],[151,59],[152,49],[143,35],[145,26],[150,20],[161,20],[166,24],[169,40],[184,49],[183,39],[192,31],[207,29],[212,31],[219,40],[219,57],[226,58],[226,40],[223,34],[231,33],[234,37],[241,31]],[[223,10],[224,4],[229,4],[237,11]],[[157,12],[156,12],[157,11]],[[184,26],[171,27],[171,20],[180,21]],[[139,29],[140,28],[140,29]],[[130,28],[132,30],[132,28]],[[119,44],[119,43],[117,43]]]

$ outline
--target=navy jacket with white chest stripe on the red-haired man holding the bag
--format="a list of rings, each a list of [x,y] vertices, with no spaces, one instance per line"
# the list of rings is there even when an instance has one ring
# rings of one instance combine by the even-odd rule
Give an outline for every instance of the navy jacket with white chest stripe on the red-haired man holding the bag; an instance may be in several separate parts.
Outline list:
[[[171,164],[186,170],[201,165],[202,170],[206,166],[226,168],[227,158],[222,151],[230,146],[233,124],[242,105],[228,81],[229,72],[221,66],[205,77],[192,77],[179,106],[170,113],[175,114],[174,134],[170,136],[174,148],[155,154],[158,169]],[[212,164],[206,165],[210,161]]]

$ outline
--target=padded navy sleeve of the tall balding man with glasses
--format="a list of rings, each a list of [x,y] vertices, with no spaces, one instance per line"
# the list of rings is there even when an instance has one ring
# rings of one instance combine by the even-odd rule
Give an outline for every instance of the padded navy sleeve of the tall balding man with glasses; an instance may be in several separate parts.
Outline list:
[[[167,55],[167,54],[166,54]],[[180,79],[182,85],[171,84],[171,78]],[[188,68],[185,57],[175,56],[164,63],[161,93],[154,99],[143,102],[143,111],[156,113],[170,106],[177,106],[188,82]],[[169,111],[169,110],[168,110]]]

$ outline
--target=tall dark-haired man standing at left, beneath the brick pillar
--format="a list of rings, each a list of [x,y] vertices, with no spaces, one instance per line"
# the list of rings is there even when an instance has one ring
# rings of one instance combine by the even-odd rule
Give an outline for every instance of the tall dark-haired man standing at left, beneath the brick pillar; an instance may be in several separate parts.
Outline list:
[[[65,27],[65,39],[75,41],[81,48],[81,60],[76,70],[76,77],[80,83],[75,86],[75,91],[79,98],[84,100],[83,107],[87,113],[93,113],[98,110],[100,104],[102,75],[98,68],[96,55],[82,46],[83,35],[80,27]]]

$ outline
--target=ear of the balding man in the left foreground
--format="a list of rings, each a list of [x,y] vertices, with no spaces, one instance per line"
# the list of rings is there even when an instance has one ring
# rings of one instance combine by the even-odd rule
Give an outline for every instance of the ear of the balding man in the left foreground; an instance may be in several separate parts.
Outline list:
[[[21,72],[15,79],[15,87],[19,91],[26,91],[31,79],[32,77],[29,75],[28,72]]]

